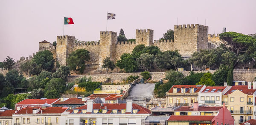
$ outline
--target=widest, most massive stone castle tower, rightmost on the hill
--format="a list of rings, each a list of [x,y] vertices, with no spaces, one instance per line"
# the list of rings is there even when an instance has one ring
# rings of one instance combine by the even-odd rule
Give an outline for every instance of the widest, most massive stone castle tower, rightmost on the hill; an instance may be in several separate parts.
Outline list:
[[[181,56],[191,57],[196,51],[208,49],[208,26],[174,25],[174,42]]]

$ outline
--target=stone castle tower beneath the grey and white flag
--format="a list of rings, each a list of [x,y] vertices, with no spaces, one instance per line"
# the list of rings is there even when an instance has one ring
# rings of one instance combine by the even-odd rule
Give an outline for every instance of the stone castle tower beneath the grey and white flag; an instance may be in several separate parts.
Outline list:
[[[113,31],[101,31],[100,36],[100,55],[99,55],[99,67],[102,67],[104,58],[110,57],[111,61],[115,61],[116,57],[116,32]]]

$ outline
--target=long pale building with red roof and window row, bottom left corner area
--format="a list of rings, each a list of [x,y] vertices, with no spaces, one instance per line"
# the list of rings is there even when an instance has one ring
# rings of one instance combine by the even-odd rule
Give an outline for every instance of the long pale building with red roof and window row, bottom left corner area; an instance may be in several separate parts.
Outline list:
[[[63,125],[60,124],[61,113],[67,107],[24,107],[12,115],[14,125]]]

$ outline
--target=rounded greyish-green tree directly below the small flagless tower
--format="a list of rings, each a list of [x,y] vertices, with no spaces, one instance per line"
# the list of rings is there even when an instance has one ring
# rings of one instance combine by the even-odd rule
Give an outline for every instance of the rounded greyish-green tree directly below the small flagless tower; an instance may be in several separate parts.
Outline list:
[[[139,67],[143,68],[145,71],[151,71],[154,63],[154,55],[144,53],[137,58],[137,63]]]

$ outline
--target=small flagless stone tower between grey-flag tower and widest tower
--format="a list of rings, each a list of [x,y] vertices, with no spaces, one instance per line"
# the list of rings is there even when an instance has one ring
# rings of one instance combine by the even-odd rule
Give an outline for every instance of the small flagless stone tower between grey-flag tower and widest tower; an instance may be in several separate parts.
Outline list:
[[[136,45],[145,44],[150,46],[153,44],[154,31],[151,29],[147,30],[136,30]]]

